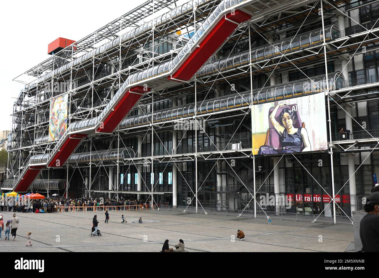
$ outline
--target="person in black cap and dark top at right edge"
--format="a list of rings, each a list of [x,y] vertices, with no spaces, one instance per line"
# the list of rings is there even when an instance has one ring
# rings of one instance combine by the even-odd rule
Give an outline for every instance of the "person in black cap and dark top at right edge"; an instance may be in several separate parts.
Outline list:
[[[371,193],[363,209],[366,215],[360,221],[359,236],[364,252],[379,252],[379,192]]]

